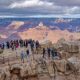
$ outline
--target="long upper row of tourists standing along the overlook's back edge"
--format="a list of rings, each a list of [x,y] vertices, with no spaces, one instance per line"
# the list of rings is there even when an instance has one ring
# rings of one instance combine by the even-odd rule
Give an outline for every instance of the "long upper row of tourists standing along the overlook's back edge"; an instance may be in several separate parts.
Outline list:
[[[28,47],[28,44],[31,45],[31,48],[33,49],[34,45],[36,45],[36,48],[39,47],[39,42],[34,41],[32,39],[29,40],[11,40],[0,44],[0,49],[12,49],[16,50],[19,47]]]

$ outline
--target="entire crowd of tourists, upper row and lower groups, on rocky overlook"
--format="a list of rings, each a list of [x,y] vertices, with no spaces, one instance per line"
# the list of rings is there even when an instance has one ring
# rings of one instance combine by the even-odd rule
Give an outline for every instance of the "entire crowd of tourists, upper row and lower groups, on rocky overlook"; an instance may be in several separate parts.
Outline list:
[[[26,51],[22,50],[20,52],[21,61],[23,61],[23,62],[24,62],[25,57],[29,57],[30,54],[34,54],[34,52],[38,53],[38,54],[42,54],[42,58],[46,58],[46,57],[52,58],[52,59],[59,58],[59,53],[57,52],[57,50],[50,48],[50,47],[42,48],[42,53],[39,53],[38,49],[41,48],[41,45],[40,45],[39,41],[34,41],[32,39],[11,40],[11,41],[7,41],[5,43],[0,44],[0,48],[3,50],[4,49],[12,49],[14,51],[14,50],[17,50],[17,48],[23,48],[23,47],[26,48]]]

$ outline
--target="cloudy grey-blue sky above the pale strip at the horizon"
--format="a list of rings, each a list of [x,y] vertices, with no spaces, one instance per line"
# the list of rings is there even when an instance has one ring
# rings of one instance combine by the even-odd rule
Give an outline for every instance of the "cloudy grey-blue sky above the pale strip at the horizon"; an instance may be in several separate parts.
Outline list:
[[[0,16],[80,15],[80,0],[0,0]]]

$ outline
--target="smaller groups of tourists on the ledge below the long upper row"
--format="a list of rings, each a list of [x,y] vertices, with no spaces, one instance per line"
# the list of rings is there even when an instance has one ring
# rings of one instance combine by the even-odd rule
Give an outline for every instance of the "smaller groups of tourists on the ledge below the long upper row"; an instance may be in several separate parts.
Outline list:
[[[32,51],[32,54],[34,54],[33,50],[31,50],[31,51]],[[52,49],[52,48],[49,48],[49,47],[48,48],[43,48],[42,53],[38,52],[38,54],[42,54],[43,59],[50,59],[50,58],[51,59],[60,59],[61,58],[60,54],[55,49]],[[26,52],[22,51],[21,52],[21,61],[24,62],[24,58],[25,57],[29,58],[30,55],[31,55],[31,52],[30,52],[29,49],[27,49]]]

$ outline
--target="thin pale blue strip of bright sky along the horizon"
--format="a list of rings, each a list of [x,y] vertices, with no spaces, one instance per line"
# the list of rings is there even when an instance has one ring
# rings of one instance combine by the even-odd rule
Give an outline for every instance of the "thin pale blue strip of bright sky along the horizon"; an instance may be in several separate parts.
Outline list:
[[[0,15],[0,18],[80,18],[80,14],[63,14],[63,15]]]

